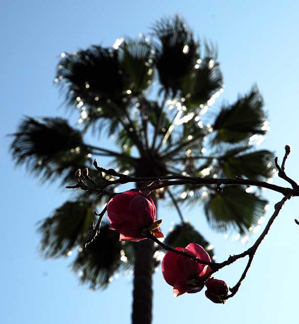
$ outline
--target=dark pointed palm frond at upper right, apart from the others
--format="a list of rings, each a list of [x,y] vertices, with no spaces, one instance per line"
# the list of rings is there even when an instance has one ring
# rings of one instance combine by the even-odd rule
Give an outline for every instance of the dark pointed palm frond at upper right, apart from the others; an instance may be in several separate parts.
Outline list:
[[[266,118],[262,95],[253,87],[233,105],[222,107],[213,125],[216,131],[213,143],[236,144],[248,140],[253,134],[265,134]]]

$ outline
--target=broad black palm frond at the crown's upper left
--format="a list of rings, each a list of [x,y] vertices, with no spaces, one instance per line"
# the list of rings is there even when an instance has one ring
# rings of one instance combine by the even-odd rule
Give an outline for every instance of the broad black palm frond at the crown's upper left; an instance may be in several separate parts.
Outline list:
[[[66,54],[57,66],[57,79],[64,80],[69,104],[83,103],[92,107],[121,101],[126,93],[118,51],[91,46]]]

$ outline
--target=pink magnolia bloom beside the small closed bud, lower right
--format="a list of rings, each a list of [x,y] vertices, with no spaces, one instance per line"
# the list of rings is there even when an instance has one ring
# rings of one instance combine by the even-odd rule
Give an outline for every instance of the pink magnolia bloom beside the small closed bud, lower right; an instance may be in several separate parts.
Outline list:
[[[186,248],[175,248],[175,250],[185,251],[198,259],[211,262],[209,254],[198,244],[191,243]],[[209,266],[174,252],[167,252],[162,261],[163,277],[168,285],[173,287],[174,297],[201,291],[205,286],[202,277],[210,271]]]

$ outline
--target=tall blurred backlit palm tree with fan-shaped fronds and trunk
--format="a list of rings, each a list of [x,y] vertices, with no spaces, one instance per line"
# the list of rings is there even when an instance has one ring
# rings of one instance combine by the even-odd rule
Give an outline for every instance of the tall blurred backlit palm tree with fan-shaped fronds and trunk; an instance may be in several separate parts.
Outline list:
[[[59,177],[64,185],[72,184],[76,170],[88,167],[90,176],[101,183],[103,178],[92,168],[94,156],[111,157],[117,171],[135,176],[271,176],[271,152],[253,147],[267,130],[262,95],[254,86],[233,104],[218,105],[205,115],[223,92],[217,51],[195,40],[178,16],[156,22],[147,37],[117,39],[111,48],[94,45],[62,53],[54,82],[65,92],[67,105],[81,113],[79,129],[63,118],[26,117],[11,144],[16,164],[26,164],[42,181]],[[86,143],[84,135],[90,129],[112,135],[119,150]],[[222,191],[185,186],[154,195],[156,203],[166,197],[180,217],[166,238],[171,246],[189,242],[209,246],[184,220],[180,206],[187,201],[202,202],[215,230],[233,227],[241,234],[254,226],[267,204],[258,192],[241,186]],[[134,269],[132,323],[149,324],[152,273],[158,263],[153,242],[123,244],[104,225],[83,248],[88,227],[95,221],[93,211],[105,202],[105,197],[92,192],[75,191],[39,223],[42,252],[59,257],[78,248],[72,268],[92,289],[108,286],[120,269]]]

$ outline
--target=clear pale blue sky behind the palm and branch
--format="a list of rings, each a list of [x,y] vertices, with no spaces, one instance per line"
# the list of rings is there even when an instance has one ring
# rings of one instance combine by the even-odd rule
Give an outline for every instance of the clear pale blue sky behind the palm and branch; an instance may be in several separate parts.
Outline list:
[[[233,102],[239,93],[258,85],[271,127],[261,147],[275,151],[282,159],[284,146],[289,144],[292,152],[287,172],[296,179],[298,11],[296,1],[187,1],[183,5],[182,1],[17,0],[0,4],[2,322],[130,322],[132,276],[120,275],[107,290],[90,291],[70,272],[71,257],[44,260],[39,255],[36,222],[62,204],[68,192],[56,183],[41,186],[23,167],[14,168],[8,155],[6,135],[15,131],[24,115],[67,117],[61,108],[63,97],[53,84],[59,53],[98,43],[111,46],[116,38],[147,32],[162,16],[182,15],[195,35],[218,46],[225,79],[225,91],[218,103]],[[104,140],[100,143],[108,147]],[[274,183],[286,185],[277,177]],[[264,195],[270,200],[268,219],[281,197],[269,191]],[[298,217],[297,210],[296,198],[287,202],[257,251],[240,292],[225,306],[213,304],[203,292],[173,298],[172,288],[158,270],[154,276],[153,323],[295,322],[299,227],[293,219]],[[178,220],[175,211],[169,212],[165,204],[161,204],[159,213],[165,229],[172,220]],[[225,239],[223,234],[212,232],[200,207],[187,209],[185,214],[213,242],[218,261],[248,248],[258,235],[242,245],[234,240],[235,233],[228,233]],[[217,277],[233,286],[243,267],[240,261]]]

